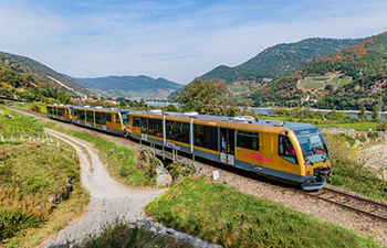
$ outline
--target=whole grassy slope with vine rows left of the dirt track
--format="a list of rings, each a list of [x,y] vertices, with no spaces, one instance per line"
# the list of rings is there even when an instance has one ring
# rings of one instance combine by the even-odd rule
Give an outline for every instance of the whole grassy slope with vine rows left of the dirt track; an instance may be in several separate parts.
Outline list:
[[[86,203],[74,150],[43,127],[0,106],[0,247],[38,246]]]

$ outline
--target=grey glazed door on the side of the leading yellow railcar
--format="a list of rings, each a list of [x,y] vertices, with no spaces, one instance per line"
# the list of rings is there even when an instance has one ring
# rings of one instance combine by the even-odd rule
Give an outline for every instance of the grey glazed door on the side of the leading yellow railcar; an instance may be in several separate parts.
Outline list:
[[[236,130],[220,128],[220,162],[236,164]]]

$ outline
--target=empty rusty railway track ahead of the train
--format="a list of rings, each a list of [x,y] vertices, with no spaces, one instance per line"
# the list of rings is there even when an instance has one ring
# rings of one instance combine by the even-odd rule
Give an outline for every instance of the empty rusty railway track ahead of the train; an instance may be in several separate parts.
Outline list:
[[[341,191],[332,186],[305,194],[387,223],[387,203],[381,201]]]

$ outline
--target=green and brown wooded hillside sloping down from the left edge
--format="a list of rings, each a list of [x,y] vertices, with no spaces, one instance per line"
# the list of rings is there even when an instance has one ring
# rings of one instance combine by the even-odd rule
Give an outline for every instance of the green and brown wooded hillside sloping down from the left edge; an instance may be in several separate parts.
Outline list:
[[[44,73],[0,53],[0,98],[50,103],[70,99],[71,95],[74,91]]]

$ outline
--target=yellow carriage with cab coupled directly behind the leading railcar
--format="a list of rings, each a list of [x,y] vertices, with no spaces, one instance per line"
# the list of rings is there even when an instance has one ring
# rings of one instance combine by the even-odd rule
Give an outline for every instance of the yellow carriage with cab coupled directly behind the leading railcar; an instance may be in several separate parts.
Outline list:
[[[126,137],[127,114],[130,109],[73,107],[73,122]]]

